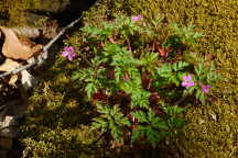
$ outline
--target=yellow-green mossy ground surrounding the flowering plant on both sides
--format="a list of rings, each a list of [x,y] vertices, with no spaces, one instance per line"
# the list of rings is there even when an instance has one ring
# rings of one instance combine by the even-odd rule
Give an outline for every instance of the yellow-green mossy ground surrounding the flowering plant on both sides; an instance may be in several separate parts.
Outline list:
[[[238,1],[108,1],[91,8],[84,21],[95,23],[106,14],[119,12],[161,16],[165,23],[194,24],[204,36],[191,52],[215,61],[224,77],[213,88],[212,103],[186,106],[184,134],[173,144],[161,147],[162,157],[238,157]],[[88,133],[87,123],[94,112],[80,100],[80,88],[68,79],[74,69],[76,67],[58,59],[46,75],[42,75],[43,81],[30,98],[23,137],[29,137],[25,143],[32,147],[29,150],[35,157],[105,156],[101,146],[106,139],[98,143],[100,148],[91,147],[99,134]],[[107,150],[110,151],[110,148]]]

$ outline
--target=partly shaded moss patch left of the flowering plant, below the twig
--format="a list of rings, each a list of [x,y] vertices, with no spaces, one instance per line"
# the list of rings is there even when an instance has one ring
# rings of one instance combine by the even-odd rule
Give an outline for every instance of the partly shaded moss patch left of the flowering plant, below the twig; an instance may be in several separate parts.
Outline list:
[[[62,65],[65,70],[60,69]],[[21,127],[28,157],[87,158],[100,155],[100,148],[93,144],[99,134],[89,133],[88,127],[94,111],[80,100],[77,86],[68,77],[74,68],[58,59],[57,65],[43,75],[44,81],[30,98],[26,120]]]

